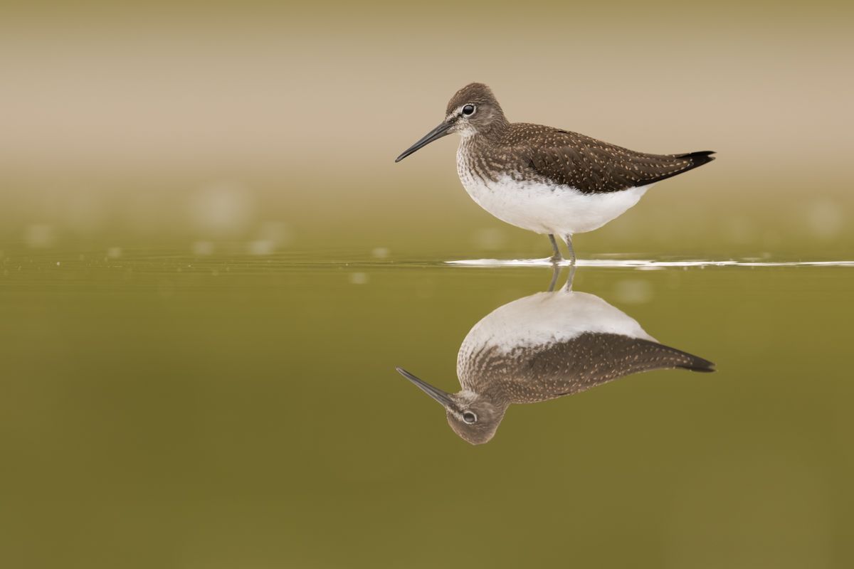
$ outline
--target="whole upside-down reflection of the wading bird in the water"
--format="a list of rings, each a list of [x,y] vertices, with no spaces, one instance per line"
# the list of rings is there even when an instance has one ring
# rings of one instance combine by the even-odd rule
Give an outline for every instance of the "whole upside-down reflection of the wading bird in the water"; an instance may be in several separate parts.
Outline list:
[[[459,346],[461,389],[443,392],[397,368],[442,404],[447,422],[471,444],[487,443],[511,404],[583,392],[652,369],[714,371],[715,364],[658,343],[623,311],[565,287],[513,300],[471,328]]]

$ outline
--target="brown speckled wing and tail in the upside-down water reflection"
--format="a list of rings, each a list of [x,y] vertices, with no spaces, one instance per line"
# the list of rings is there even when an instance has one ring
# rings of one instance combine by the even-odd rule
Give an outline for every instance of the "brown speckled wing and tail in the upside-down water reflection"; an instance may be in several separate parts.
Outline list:
[[[494,396],[508,403],[559,398],[652,369],[715,369],[702,357],[621,334],[586,333],[545,347],[518,348],[501,357],[494,352],[479,356],[487,361],[472,367],[491,375],[488,383]]]

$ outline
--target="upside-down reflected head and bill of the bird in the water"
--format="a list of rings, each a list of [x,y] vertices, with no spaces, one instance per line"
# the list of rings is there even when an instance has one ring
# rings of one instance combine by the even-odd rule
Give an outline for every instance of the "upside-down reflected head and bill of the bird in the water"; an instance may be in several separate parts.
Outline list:
[[[397,368],[397,371],[445,408],[447,424],[460,438],[471,444],[488,443],[493,438],[504,418],[506,405],[494,404],[473,392],[443,392],[406,369]]]

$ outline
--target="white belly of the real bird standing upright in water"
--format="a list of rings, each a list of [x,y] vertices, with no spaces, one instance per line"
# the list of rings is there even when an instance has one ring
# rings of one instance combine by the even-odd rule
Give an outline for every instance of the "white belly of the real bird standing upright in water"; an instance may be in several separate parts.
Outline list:
[[[457,172],[478,206],[501,221],[542,234],[572,235],[600,228],[634,206],[652,187],[585,194],[570,186],[520,181],[507,175],[484,181],[463,167],[459,154]]]

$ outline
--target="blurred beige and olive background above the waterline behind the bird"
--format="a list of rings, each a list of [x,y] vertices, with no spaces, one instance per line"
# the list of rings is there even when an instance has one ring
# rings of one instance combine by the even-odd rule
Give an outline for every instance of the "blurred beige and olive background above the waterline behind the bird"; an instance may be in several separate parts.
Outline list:
[[[7,6],[0,236],[545,254],[465,194],[453,138],[393,162],[482,81],[511,120],[719,153],[582,251],[838,256],[852,38],[828,2]]]

